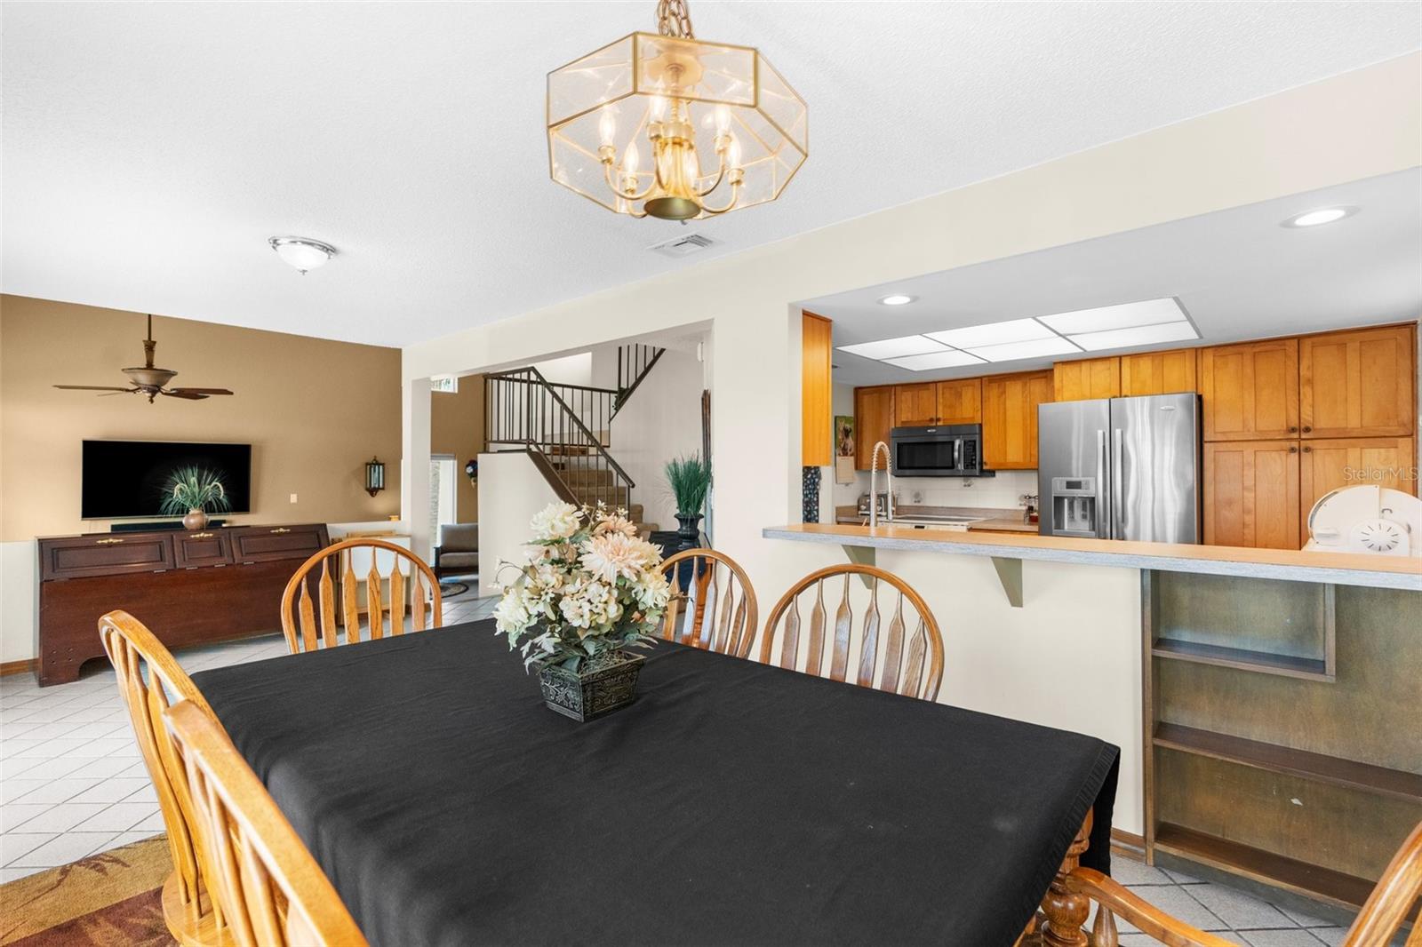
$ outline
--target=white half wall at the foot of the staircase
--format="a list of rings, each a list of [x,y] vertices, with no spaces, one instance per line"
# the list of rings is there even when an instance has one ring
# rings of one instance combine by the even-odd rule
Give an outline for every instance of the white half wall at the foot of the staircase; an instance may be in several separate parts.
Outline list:
[[[498,589],[501,562],[528,562],[529,520],[557,495],[528,454],[479,455],[479,594]]]

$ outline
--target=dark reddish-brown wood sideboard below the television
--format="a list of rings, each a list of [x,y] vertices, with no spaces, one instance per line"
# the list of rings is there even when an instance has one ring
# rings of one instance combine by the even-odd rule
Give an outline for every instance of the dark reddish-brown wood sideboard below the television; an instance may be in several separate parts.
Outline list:
[[[326,523],[40,539],[40,685],[104,657],[98,619],[124,609],[168,647],[282,627],[282,590],[330,545]]]

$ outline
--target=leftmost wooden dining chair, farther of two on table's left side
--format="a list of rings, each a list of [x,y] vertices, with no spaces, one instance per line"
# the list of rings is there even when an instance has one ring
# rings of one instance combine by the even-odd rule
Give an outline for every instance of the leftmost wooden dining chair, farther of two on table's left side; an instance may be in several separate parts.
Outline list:
[[[164,920],[183,947],[230,944],[222,911],[209,897],[206,866],[193,840],[186,774],[162,724],[171,701],[186,701],[195,714],[206,714],[213,722],[216,718],[192,678],[142,621],[127,611],[109,611],[98,620],[98,633],[118,675],[118,692],[128,708],[168,835],[173,870],[164,882]]]

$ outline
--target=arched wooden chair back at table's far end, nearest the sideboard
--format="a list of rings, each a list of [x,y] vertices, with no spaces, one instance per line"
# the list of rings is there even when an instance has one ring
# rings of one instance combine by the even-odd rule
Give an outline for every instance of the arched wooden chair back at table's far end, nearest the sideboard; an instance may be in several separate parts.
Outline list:
[[[358,574],[354,566],[358,550],[368,550],[370,569]],[[380,550],[391,555],[388,576],[380,574]],[[410,579],[401,565],[410,565]],[[316,580],[317,603],[311,600],[311,573],[320,566]],[[340,597],[336,594],[334,572],[340,572]],[[282,593],[282,634],[292,654],[314,651],[319,647],[333,648],[340,644],[337,620],[346,631],[346,644],[360,641],[360,583],[365,583],[364,606],[367,634],[370,640],[385,637],[385,616],[390,616],[390,634],[405,633],[405,609],[410,609],[410,626],[414,631],[425,627],[438,628],[444,624],[444,604],[439,599],[439,580],[425,565],[425,560],[404,546],[384,539],[343,539],[316,553],[296,570]],[[407,594],[407,584],[408,594]],[[390,589],[388,600],[384,589]],[[408,600],[407,600],[408,599]],[[340,607],[337,609],[337,601]],[[428,626],[427,626],[428,616]]]

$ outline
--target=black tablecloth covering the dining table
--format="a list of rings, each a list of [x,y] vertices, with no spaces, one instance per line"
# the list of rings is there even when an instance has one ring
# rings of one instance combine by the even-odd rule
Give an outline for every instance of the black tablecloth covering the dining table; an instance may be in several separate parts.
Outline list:
[[[1115,747],[675,644],[589,724],[488,621],[195,680],[374,944],[1005,946],[1109,867]]]

